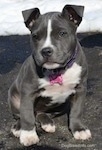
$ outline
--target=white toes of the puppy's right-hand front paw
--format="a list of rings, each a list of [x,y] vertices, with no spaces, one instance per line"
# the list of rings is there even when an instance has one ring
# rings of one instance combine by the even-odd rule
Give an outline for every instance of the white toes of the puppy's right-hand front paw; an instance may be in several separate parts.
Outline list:
[[[89,138],[91,138],[91,132],[88,129],[82,131],[76,131],[73,134],[73,136],[76,140],[88,140]]]

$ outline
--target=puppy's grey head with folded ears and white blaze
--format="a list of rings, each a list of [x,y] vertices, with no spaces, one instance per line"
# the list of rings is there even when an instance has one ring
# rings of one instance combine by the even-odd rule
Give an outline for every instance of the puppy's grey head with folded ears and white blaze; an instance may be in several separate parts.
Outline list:
[[[76,29],[82,21],[83,6],[66,5],[62,12],[41,15],[38,8],[23,11],[31,31],[32,55],[46,69],[62,67],[75,51]]]

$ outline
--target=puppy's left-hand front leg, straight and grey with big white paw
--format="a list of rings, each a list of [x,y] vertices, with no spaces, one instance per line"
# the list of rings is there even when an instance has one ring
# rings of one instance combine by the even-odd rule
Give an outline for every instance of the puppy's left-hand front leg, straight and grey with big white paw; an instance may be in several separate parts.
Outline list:
[[[21,96],[21,134],[20,143],[24,146],[30,146],[39,142],[35,129],[34,117],[34,97],[23,93]]]

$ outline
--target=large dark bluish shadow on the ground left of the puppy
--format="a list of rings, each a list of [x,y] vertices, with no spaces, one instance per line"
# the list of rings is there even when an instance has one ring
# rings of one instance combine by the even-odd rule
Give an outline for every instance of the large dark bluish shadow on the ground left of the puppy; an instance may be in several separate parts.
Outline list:
[[[0,37],[0,74],[10,72],[30,55],[29,36]]]

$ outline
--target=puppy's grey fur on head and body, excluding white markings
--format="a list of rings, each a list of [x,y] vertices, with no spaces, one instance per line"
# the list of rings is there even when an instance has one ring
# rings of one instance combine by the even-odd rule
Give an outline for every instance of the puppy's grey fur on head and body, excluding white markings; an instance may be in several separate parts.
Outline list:
[[[71,8],[71,11],[69,8]],[[36,11],[35,9],[34,11],[31,9],[23,12],[25,24],[31,31],[32,55],[25,60],[16,80],[11,85],[8,92],[8,100],[12,113],[15,118],[20,119],[22,130],[29,131],[35,127],[36,116],[39,112],[44,113],[44,115],[46,113],[47,115],[50,114],[49,116],[51,117],[52,112],[54,116],[57,111],[59,112],[59,109],[61,110],[61,106],[65,106],[66,104],[68,104],[69,107],[65,112],[68,114],[71,132],[74,134],[76,131],[86,129],[81,123],[80,117],[82,114],[82,105],[86,98],[87,63],[76,36],[77,26],[82,20],[83,9],[84,7],[81,6],[67,5],[64,7],[62,13],[51,12],[41,15],[39,9],[36,9]],[[73,19],[70,18],[70,14]],[[49,19],[52,21],[53,31],[51,33],[51,40],[54,49],[51,57],[46,59],[42,56],[41,51],[47,36],[47,23]],[[74,19],[77,19],[77,22],[74,22]],[[64,32],[63,34],[65,34],[62,35],[62,37],[59,35],[62,34],[61,32]],[[38,82],[38,79],[44,78],[42,71],[43,64],[48,60],[49,62],[58,63],[60,64],[60,67],[63,67],[66,64],[66,61],[70,59],[76,46],[77,56],[75,62],[82,67],[81,81],[75,88],[76,94],[68,97],[65,105],[61,104],[59,106],[58,104],[54,104],[48,106],[51,102],[51,97],[44,98],[39,96],[39,93],[44,90],[39,88]],[[18,107],[16,108],[14,104],[13,97],[16,96],[20,100],[18,102],[19,109]],[[61,113],[63,110],[61,110]],[[44,120],[42,122],[44,124]]]

